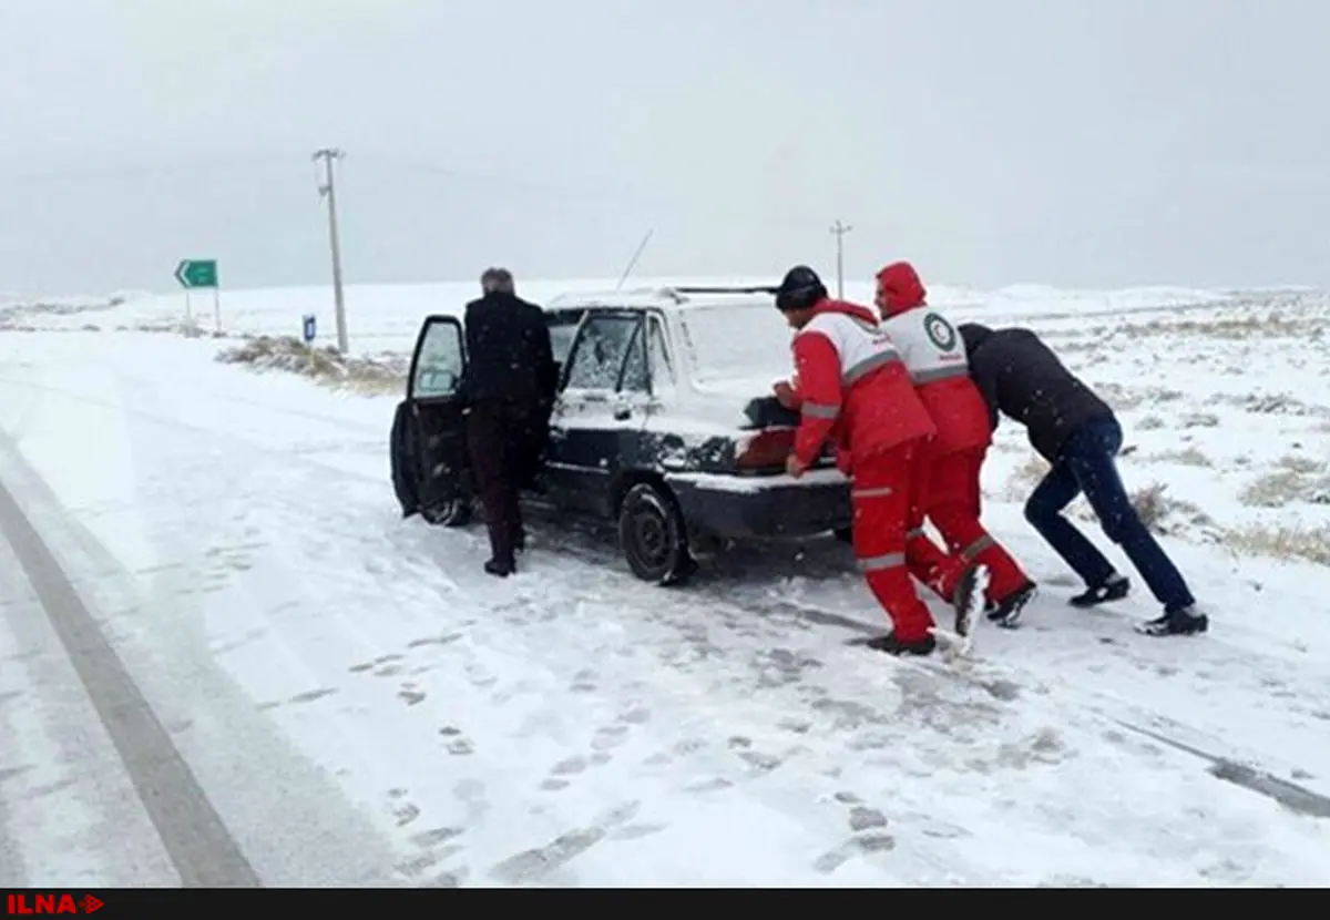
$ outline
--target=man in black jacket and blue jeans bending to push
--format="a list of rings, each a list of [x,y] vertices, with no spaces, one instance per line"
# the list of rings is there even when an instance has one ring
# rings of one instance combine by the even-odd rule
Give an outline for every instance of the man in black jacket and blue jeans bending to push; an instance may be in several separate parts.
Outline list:
[[[1115,457],[1123,428],[1113,409],[1076,378],[1037,335],[1025,328],[960,327],[970,372],[988,403],[990,424],[998,412],[1025,425],[1029,443],[1052,464],[1025,503],[1025,520],[1085,581],[1071,598],[1089,608],[1127,596],[1128,580],[1063,516],[1081,492],[1104,533],[1119,544],[1164,605],[1164,616],[1140,629],[1149,635],[1204,633],[1209,620],[1177,566],[1141,521],[1117,473]]]

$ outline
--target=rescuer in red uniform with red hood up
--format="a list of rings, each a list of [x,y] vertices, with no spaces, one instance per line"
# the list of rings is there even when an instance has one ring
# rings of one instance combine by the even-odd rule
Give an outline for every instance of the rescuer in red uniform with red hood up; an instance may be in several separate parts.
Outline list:
[[[910,570],[942,597],[951,597],[956,581],[951,560],[959,556],[964,562],[983,564],[990,576],[988,618],[1015,626],[1036,586],[979,522],[979,473],[992,444],[988,407],[970,378],[964,340],[927,304],[927,296],[908,262],[892,262],[878,273],[875,302],[882,327],[900,351],[915,392],[938,428],[936,439],[918,455],[916,488],[927,517],[954,554],[943,554],[919,526],[908,534]]]

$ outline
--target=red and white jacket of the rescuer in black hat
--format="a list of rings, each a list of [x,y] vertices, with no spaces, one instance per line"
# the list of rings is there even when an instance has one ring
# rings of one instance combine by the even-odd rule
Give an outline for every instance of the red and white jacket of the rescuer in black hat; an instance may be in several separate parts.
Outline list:
[[[936,433],[891,336],[864,307],[822,300],[794,336],[794,453],[805,465],[813,465],[827,439],[837,447],[837,465],[849,473],[855,459]]]

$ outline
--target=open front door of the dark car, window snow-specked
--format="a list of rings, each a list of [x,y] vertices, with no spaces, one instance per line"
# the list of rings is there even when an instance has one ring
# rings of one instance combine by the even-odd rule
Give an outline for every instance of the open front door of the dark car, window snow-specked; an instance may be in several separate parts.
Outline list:
[[[392,481],[406,517],[466,522],[471,511],[467,467],[466,336],[456,316],[427,316],[416,338],[407,398],[392,420]]]

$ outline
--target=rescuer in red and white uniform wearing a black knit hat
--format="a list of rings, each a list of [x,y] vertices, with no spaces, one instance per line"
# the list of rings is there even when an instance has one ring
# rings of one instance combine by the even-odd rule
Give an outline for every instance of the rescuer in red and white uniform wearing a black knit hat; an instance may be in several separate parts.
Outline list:
[[[803,475],[833,440],[838,464],[851,480],[854,553],[892,626],[868,645],[895,655],[927,655],[936,647],[935,624],[906,569],[906,532],[916,504],[915,459],[934,436],[934,423],[872,311],[833,300],[807,266],[790,269],[775,306],[795,330],[798,391],[777,387],[783,403],[799,408],[786,469],[794,477]],[[968,635],[984,604],[980,577],[980,568],[972,566],[952,597],[962,635]]]

